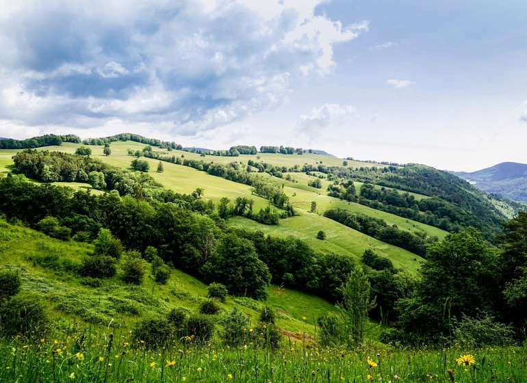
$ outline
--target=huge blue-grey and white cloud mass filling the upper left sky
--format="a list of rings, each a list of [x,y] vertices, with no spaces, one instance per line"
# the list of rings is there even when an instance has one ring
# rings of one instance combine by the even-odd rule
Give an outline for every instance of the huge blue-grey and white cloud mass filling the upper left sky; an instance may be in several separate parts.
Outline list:
[[[280,105],[368,30],[322,2],[18,1],[0,15],[0,135],[116,118],[197,137]]]

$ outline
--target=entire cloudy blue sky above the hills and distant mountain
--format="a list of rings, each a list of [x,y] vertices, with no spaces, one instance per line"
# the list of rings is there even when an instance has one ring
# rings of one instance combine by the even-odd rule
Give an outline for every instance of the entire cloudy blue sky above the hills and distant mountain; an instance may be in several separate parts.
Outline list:
[[[527,163],[527,1],[0,0],[0,137]]]

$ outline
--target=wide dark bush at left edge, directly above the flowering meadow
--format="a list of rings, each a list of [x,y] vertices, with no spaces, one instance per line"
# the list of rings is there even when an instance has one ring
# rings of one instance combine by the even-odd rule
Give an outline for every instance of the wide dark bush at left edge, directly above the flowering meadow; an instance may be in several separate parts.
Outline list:
[[[42,334],[46,331],[47,315],[41,299],[17,295],[0,307],[0,328],[7,336]]]

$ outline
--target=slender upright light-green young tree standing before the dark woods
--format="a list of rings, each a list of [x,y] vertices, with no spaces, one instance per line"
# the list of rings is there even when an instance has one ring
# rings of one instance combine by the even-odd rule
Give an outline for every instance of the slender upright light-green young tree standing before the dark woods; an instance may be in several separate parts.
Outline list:
[[[344,323],[348,333],[348,345],[357,345],[362,342],[368,311],[375,306],[375,301],[370,300],[370,281],[365,276],[361,267],[355,267],[350,274],[346,285],[342,287],[342,304]]]

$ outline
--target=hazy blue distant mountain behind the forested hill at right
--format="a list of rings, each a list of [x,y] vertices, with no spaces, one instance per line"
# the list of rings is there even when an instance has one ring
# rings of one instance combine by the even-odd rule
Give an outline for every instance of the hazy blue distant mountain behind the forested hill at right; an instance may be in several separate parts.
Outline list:
[[[527,202],[527,164],[502,162],[477,172],[450,172],[487,193]]]

